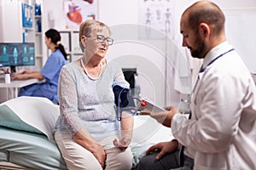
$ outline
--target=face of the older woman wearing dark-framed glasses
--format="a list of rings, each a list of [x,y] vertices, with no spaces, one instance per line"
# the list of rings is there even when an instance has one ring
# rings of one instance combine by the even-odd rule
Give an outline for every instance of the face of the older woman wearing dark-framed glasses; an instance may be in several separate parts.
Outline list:
[[[103,29],[102,31],[93,32],[88,37],[84,37],[86,53],[89,56],[98,56],[104,58],[107,54],[111,38],[109,31]]]

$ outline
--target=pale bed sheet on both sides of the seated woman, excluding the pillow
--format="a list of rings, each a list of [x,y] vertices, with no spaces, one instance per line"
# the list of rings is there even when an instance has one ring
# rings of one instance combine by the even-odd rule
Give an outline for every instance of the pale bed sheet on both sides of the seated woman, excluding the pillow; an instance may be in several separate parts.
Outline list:
[[[56,144],[50,142],[44,134],[5,127],[0,127],[0,134],[0,153],[8,151],[9,162],[34,169],[67,169]],[[150,116],[135,116],[131,140],[133,167],[137,166],[149,146],[171,139],[173,137],[170,128],[163,127]],[[4,157],[1,160],[7,161]]]

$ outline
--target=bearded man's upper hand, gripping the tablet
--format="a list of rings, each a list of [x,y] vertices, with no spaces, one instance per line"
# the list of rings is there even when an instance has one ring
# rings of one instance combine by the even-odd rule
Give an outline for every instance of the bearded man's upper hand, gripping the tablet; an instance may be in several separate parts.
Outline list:
[[[168,106],[166,107],[166,110],[167,111],[150,113],[150,116],[162,125],[166,127],[171,127],[172,117],[178,112],[178,110],[174,106]]]

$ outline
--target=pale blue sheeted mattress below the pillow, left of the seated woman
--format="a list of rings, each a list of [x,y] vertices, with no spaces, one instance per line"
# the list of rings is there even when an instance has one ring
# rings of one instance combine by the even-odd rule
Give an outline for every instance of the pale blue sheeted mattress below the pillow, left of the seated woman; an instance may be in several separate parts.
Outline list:
[[[44,134],[0,127],[0,162],[33,169],[67,169],[55,143]]]

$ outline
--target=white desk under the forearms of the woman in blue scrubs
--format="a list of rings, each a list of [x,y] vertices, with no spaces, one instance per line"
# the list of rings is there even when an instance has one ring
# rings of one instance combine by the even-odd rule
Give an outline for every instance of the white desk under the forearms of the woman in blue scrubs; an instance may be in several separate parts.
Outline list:
[[[0,88],[12,88],[14,90],[14,94],[12,95],[12,97],[9,96],[9,99],[14,99],[18,97],[18,88],[22,88],[37,82],[39,82],[37,78],[32,78],[28,80],[15,80],[10,83],[0,82]]]

